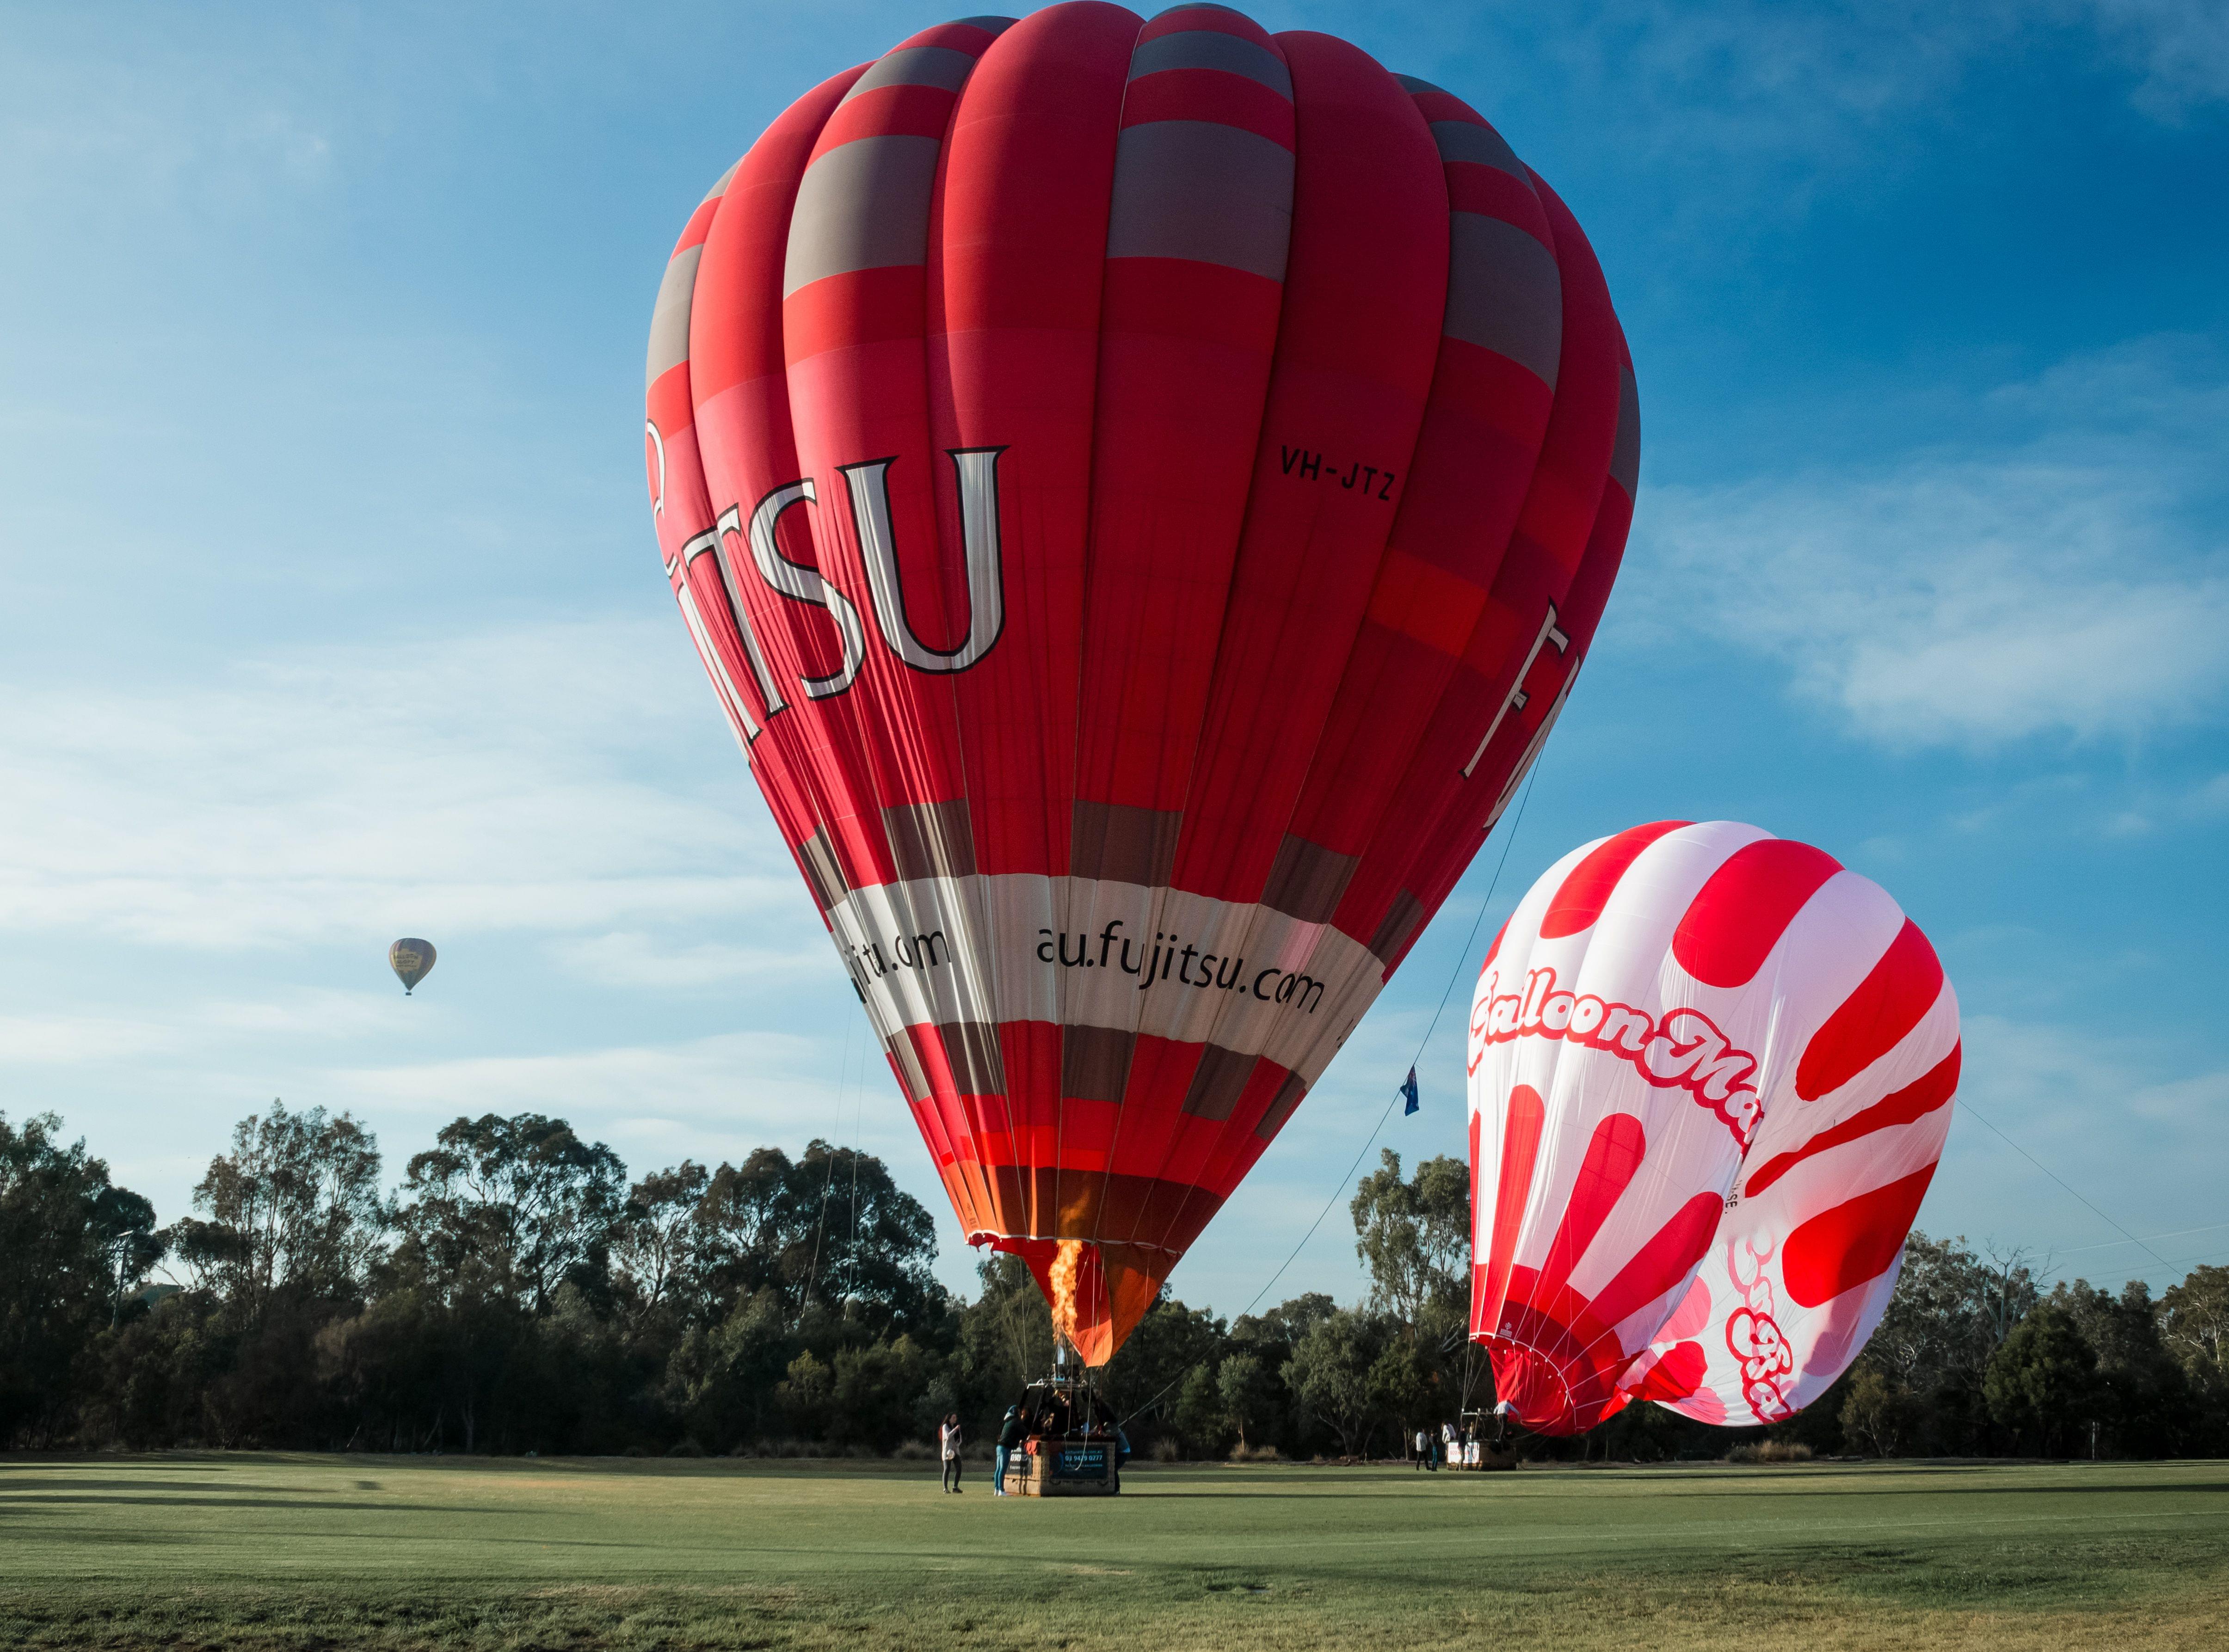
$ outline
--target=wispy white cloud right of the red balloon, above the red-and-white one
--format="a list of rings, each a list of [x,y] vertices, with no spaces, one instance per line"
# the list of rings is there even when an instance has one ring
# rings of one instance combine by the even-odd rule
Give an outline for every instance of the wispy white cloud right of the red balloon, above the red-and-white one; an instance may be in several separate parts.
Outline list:
[[[1890,745],[2138,738],[2229,693],[2229,542],[2202,522],[2229,381],[2131,346],[1970,408],[1995,444],[1645,495],[1627,609],[1781,660]],[[1647,622],[1647,620],[1645,620]]]

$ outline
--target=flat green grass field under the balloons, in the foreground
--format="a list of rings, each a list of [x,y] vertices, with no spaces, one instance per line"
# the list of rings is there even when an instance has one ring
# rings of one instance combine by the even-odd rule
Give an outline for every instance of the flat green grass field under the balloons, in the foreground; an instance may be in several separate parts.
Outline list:
[[[2229,1645],[2229,1462],[970,1474],[0,1458],[0,1645]]]

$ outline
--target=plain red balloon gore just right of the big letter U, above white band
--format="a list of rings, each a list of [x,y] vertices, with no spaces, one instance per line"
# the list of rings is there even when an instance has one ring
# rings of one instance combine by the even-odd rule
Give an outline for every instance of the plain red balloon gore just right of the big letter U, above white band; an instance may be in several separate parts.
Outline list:
[[[992,874],[1068,872],[1099,285],[1137,27],[1097,0],[1039,11],[983,54],[952,116],[927,283],[932,446],[1008,448],[1008,626],[950,678],[976,869]],[[956,569],[956,470],[938,459],[934,475]]]

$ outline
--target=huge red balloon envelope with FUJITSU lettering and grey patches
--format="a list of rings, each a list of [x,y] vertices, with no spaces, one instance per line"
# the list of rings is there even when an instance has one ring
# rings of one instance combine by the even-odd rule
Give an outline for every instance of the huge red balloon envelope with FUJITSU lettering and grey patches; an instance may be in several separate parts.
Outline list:
[[[1493,127],[1221,7],[925,29],[695,210],[666,575],[970,1242],[1088,1362],[1500,816],[1638,450]]]

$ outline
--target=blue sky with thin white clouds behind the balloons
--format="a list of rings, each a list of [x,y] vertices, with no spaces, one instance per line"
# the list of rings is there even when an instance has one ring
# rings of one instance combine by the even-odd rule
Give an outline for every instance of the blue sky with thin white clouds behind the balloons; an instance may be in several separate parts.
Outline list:
[[[2229,13],[1253,13],[1496,120],[1632,337],[1634,542],[1487,932],[1636,820],[1819,843],[1964,1003],[1921,1224],[2093,1280],[2229,1260]],[[691,205],[789,96],[943,16],[11,9],[0,1110],[62,1112],[165,1219],[274,1095],[366,1117],[397,1175],[486,1108],[637,1173],[818,1133],[883,1153],[972,1280],[640,464]],[[1460,1005],[1500,858],[1179,1295],[1242,1309],[1306,1231],[1456,970]],[[410,1001],[397,934],[441,948]],[[1460,1026],[1404,1155],[1460,1153]],[[1297,1289],[1357,1289],[1344,1211]]]

